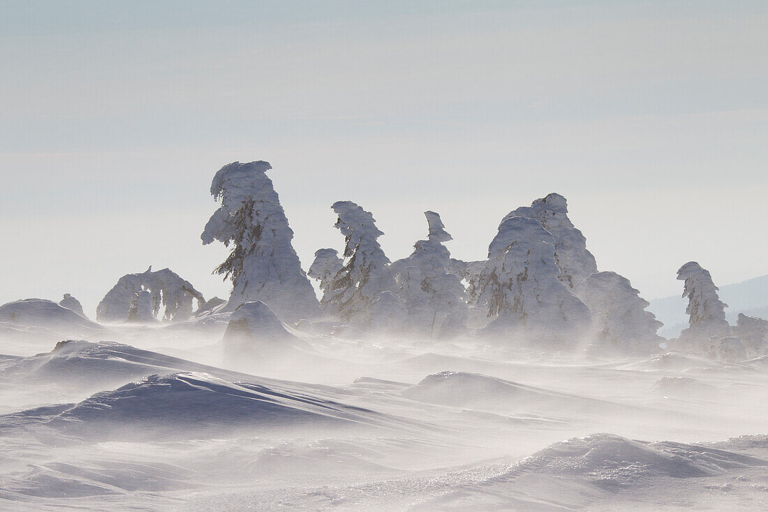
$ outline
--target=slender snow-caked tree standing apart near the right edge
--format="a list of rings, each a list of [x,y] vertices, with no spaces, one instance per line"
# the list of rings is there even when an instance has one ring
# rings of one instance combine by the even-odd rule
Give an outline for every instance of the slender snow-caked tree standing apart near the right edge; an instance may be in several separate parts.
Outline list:
[[[683,297],[688,298],[685,312],[690,327],[680,333],[672,346],[678,350],[710,354],[723,337],[730,336],[730,325],[725,319],[728,304],[720,301],[717,286],[710,272],[696,261],[689,261],[677,271],[677,279],[685,281]]]

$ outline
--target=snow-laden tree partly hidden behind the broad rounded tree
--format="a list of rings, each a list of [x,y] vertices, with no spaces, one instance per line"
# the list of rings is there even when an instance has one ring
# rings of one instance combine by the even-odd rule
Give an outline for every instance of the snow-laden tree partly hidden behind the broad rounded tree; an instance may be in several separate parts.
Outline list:
[[[568,201],[554,192],[537,199],[531,206],[521,206],[506,217],[532,218],[539,222],[554,238],[554,261],[560,270],[559,279],[568,288],[598,271],[594,256],[587,250],[587,239],[568,218]]]

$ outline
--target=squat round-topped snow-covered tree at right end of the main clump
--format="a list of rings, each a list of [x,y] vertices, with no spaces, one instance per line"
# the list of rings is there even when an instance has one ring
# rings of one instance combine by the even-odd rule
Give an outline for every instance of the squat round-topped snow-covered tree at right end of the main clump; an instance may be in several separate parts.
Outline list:
[[[665,340],[656,331],[662,324],[645,311],[650,304],[627,278],[616,272],[591,274],[576,284],[574,294],[591,311],[594,351],[652,354],[660,350]]]

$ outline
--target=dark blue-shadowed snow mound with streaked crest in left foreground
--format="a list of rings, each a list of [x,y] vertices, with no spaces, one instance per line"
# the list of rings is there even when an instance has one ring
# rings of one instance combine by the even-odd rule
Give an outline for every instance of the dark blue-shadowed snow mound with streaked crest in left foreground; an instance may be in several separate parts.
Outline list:
[[[245,429],[374,426],[373,411],[319,397],[200,372],[149,375],[94,394],[57,414],[48,426],[92,437],[195,437]]]

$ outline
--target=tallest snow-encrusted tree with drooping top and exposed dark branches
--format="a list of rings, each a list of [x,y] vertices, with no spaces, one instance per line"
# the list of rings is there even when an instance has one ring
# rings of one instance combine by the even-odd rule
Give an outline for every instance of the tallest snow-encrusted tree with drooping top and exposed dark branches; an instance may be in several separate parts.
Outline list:
[[[220,208],[200,238],[203,244],[218,240],[232,245],[229,257],[216,269],[233,283],[226,311],[262,301],[285,321],[316,318],[319,304],[293,250],[293,231],[280,198],[266,175],[271,168],[266,161],[236,161],[220,168],[210,185]]]

